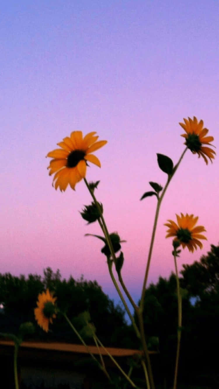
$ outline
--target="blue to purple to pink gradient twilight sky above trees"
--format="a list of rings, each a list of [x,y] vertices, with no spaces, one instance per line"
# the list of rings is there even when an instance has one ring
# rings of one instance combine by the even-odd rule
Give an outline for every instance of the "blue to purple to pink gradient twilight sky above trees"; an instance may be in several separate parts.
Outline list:
[[[91,202],[83,180],[76,191],[52,187],[46,154],[74,130],[97,131],[108,144],[94,154],[87,180],[109,232],[118,231],[123,278],[138,301],[156,198],[140,197],[149,181],[164,185],[156,153],[177,163],[184,150],[179,122],[203,119],[218,147],[219,2],[216,0],[10,1],[1,5],[1,265],[0,273],[97,280],[118,302],[101,254],[97,223],[79,211]],[[216,150],[217,152],[217,150]],[[199,216],[207,241],[183,250],[191,264],[219,242],[218,157],[208,166],[190,151],[164,196],[148,283],[174,270],[167,219]]]

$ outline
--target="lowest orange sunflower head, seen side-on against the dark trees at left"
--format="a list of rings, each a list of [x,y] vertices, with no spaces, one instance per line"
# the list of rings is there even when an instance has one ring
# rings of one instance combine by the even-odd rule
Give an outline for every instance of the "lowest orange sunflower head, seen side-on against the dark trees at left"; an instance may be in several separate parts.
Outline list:
[[[55,301],[56,297],[46,289],[46,292],[42,292],[38,296],[37,308],[34,309],[34,315],[39,326],[48,332],[49,323],[52,324],[55,319]]]

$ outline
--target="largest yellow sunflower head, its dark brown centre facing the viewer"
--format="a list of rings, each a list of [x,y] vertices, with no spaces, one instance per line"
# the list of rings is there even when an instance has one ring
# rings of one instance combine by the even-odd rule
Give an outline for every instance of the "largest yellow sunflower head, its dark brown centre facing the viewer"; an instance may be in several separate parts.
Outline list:
[[[65,191],[68,184],[75,188],[77,182],[85,178],[87,161],[101,167],[99,159],[91,154],[104,146],[107,141],[99,140],[96,132],[90,132],[83,138],[81,131],[73,131],[70,137],[63,139],[63,142],[57,143],[61,149],[55,149],[48,152],[47,157],[53,158],[48,166],[49,175],[55,173],[55,189]]]

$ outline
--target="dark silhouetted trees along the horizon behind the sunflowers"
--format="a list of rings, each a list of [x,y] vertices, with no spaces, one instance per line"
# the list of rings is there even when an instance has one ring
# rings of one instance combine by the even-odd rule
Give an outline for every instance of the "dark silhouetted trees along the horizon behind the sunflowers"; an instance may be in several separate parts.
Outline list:
[[[183,265],[180,287],[183,298],[179,377],[195,375],[196,384],[197,377],[202,384],[212,377],[215,387],[219,387],[218,358],[215,357],[219,349],[219,246],[211,245],[211,251],[200,261]],[[105,346],[140,347],[132,326],[125,321],[124,309],[115,305],[96,281],[87,281],[83,276],[79,280],[72,276],[65,280],[59,270],[53,272],[51,268],[44,270],[43,277],[0,274],[0,302],[4,304],[0,312],[0,332],[16,333],[22,322],[32,321],[34,339],[79,343],[61,316],[57,316],[48,333],[35,323],[37,296],[46,288],[54,291],[58,307],[67,312],[75,326],[79,325],[78,315],[88,311]],[[177,344],[177,294],[173,273],[169,279],[159,277],[157,284],[147,288],[144,326],[149,349],[158,351],[152,358],[153,369],[160,378],[171,380]],[[93,344],[91,339],[87,343]]]

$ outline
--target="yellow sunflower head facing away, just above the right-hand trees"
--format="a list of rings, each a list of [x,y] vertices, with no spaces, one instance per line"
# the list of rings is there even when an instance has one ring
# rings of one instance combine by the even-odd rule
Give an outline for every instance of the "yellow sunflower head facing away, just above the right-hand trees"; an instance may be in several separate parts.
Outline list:
[[[203,226],[194,227],[198,221],[198,216],[188,215],[181,213],[181,217],[177,216],[178,225],[172,221],[168,220],[169,223],[164,224],[169,228],[166,235],[166,238],[175,237],[173,240],[180,242],[183,249],[185,246],[188,247],[189,251],[193,252],[194,249],[197,250],[197,245],[202,248],[202,243],[198,239],[206,239],[204,235],[201,235],[200,232],[206,231]]]

